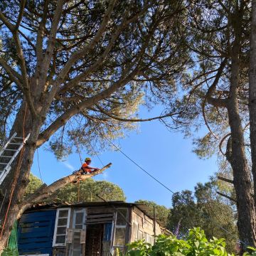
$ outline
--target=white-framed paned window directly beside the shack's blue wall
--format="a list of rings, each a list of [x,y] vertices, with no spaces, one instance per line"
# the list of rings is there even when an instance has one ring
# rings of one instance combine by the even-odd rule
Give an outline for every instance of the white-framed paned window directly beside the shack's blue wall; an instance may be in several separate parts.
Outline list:
[[[53,246],[65,246],[67,228],[70,223],[70,208],[60,208],[57,210],[55,219],[55,230]]]

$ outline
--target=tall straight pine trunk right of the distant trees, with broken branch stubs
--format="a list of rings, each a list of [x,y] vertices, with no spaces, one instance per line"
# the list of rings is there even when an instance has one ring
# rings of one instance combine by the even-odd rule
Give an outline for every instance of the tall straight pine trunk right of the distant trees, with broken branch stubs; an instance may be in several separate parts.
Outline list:
[[[240,26],[242,14],[240,12],[238,14],[238,26]],[[241,28],[235,27],[234,29],[236,37],[232,50],[230,94],[227,104],[231,137],[226,156],[233,169],[233,183],[238,202],[238,233],[243,242],[242,249],[246,250],[248,245],[252,247],[256,245],[256,220],[255,203],[251,196],[250,170],[245,156],[245,141],[238,107]]]

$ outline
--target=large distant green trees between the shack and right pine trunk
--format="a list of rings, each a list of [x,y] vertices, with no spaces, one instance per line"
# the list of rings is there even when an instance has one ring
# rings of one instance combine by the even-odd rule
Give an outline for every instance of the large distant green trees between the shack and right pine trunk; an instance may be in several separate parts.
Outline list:
[[[179,237],[187,235],[189,228],[201,227],[207,238],[225,238],[228,250],[233,251],[238,235],[234,209],[216,193],[217,188],[217,183],[210,181],[198,183],[194,196],[191,191],[175,193],[167,227]]]

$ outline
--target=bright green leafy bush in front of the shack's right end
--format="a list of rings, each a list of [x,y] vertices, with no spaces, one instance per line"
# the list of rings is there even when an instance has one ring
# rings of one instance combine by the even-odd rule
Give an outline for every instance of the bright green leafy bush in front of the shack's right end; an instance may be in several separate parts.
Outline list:
[[[252,248],[250,248],[252,249]],[[208,241],[201,228],[189,230],[184,240],[175,235],[158,235],[155,245],[139,240],[128,245],[127,256],[232,256],[225,250],[223,238]],[[245,255],[249,255],[246,253]],[[256,256],[253,252],[251,256]]]

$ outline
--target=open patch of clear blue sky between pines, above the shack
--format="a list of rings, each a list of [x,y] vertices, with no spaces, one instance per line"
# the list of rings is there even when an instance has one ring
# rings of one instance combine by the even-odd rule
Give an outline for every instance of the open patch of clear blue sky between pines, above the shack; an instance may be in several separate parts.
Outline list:
[[[201,160],[192,152],[191,139],[183,139],[181,132],[169,132],[159,121],[140,124],[140,133],[132,132],[119,141],[122,151],[159,179],[172,191],[193,190],[198,182],[208,181],[218,166],[216,158]],[[55,156],[43,148],[38,150],[43,182],[53,181],[71,174],[80,168],[78,154],[72,154],[66,161],[57,161]],[[82,158],[87,156],[82,152]],[[127,196],[127,202],[138,199],[155,201],[166,207],[171,206],[172,194],[135,166],[119,151],[107,151],[99,155],[104,164],[112,167],[95,180],[106,180],[117,184]],[[97,156],[92,156],[91,166],[102,167]],[[35,154],[32,173],[39,176]]]

